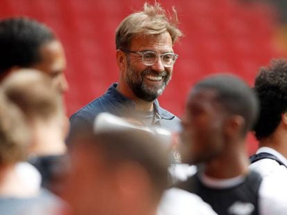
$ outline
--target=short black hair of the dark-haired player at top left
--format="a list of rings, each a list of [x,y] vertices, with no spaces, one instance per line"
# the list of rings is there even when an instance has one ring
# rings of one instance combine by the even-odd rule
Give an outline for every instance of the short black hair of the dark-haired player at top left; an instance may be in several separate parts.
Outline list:
[[[55,39],[50,28],[25,17],[0,21],[0,75],[12,66],[28,68],[41,61],[40,46]]]

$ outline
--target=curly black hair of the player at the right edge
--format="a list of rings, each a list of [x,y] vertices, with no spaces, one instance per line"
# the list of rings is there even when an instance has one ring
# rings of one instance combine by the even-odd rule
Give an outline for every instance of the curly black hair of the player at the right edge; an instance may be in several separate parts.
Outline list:
[[[261,67],[254,83],[260,100],[259,120],[254,127],[257,140],[267,138],[277,129],[281,114],[287,111],[287,61],[273,59]]]

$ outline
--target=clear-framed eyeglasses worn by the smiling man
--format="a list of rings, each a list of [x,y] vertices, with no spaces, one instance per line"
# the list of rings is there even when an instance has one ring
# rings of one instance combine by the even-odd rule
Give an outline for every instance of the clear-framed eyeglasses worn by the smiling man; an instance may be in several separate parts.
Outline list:
[[[157,57],[160,57],[162,60],[162,65],[164,67],[171,67],[175,64],[175,61],[178,57],[175,53],[164,53],[164,54],[157,54],[152,50],[146,50],[143,52],[137,52],[132,50],[122,50],[124,53],[133,53],[136,55],[140,55],[142,62],[146,66],[153,66],[155,62],[157,62]]]

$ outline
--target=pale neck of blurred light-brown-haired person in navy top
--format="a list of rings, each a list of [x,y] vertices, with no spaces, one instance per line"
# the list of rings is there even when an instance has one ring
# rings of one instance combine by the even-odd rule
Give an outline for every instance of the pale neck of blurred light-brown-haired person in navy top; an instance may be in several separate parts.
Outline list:
[[[30,153],[36,156],[56,156],[65,153],[66,144],[64,144],[61,127],[56,120],[48,122],[34,120],[32,134]]]

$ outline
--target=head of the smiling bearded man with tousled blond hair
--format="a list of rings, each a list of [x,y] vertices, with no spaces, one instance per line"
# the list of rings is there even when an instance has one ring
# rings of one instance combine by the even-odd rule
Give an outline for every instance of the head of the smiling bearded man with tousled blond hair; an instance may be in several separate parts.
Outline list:
[[[155,100],[171,80],[177,58],[173,44],[182,35],[173,12],[174,16],[168,17],[159,3],[145,3],[143,11],[123,19],[116,30],[119,84],[141,100]]]

